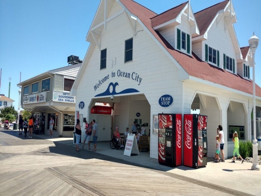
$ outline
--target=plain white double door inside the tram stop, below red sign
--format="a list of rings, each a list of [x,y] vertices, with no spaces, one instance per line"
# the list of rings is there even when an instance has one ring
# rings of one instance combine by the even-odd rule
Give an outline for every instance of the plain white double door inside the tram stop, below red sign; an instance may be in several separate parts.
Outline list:
[[[97,116],[98,141],[109,141],[111,139],[111,116]]]

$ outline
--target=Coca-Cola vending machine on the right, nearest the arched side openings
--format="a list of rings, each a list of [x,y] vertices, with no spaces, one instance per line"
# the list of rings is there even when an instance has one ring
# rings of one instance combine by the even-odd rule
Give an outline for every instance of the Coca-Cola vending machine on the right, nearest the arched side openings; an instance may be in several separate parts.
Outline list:
[[[203,167],[207,165],[207,116],[184,114],[183,165]]]

